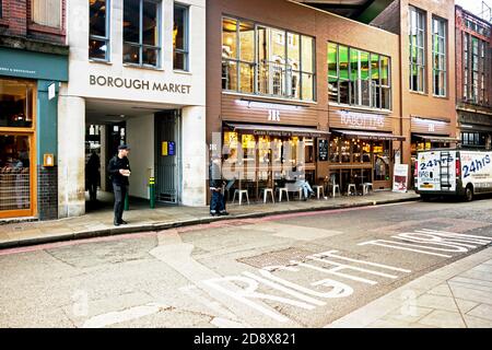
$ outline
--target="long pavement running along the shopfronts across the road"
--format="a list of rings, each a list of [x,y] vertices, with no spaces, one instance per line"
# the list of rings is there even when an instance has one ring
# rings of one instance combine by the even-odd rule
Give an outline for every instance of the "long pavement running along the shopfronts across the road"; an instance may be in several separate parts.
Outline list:
[[[227,217],[210,217],[208,207],[136,207],[125,211],[126,225],[113,225],[113,210],[101,209],[77,218],[51,221],[0,220],[0,248],[37,245],[70,240],[83,240],[125,233],[161,231],[172,228],[204,224],[231,219],[261,218],[281,213],[355,208],[418,200],[414,191],[405,194],[388,190],[371,191],[365,196],[341,196],[308,201],[253,203],[242,206],[227,203]]]

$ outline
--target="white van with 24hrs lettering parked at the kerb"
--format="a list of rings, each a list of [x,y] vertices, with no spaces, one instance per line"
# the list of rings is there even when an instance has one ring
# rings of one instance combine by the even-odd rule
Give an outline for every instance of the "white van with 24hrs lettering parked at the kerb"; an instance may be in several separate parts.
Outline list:
[[[435,149],[417,153],[415,191],[422,199],[492,192],[492,151]]]

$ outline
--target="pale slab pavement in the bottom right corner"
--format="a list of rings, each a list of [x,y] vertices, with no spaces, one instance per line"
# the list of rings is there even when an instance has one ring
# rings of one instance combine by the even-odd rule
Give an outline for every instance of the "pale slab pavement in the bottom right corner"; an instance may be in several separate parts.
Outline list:
[[[326,328],[491,328],[492,247],[426,273]]]

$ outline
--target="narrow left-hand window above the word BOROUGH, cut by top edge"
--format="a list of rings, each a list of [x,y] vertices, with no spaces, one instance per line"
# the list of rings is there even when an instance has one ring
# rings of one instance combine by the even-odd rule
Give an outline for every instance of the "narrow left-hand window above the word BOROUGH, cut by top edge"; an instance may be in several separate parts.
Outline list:
[[[89,16],[89,58],[109,60],[109,0],[90,0]]]

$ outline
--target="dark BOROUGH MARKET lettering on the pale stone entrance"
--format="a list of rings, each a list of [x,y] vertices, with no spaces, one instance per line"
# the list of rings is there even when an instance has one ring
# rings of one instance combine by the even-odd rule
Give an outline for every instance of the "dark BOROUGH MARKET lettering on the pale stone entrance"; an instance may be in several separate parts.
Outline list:
[[[142,79],[128,79],[128,78],[114,78],[105,75],[89,77],[91,85],[118,88],[118,89],[134,89],[134,90],[148,90],[148,91],[161,91],[172,92],[176,94],[189,94],[191,85],[163,83],[163,82],[150,82]]]

